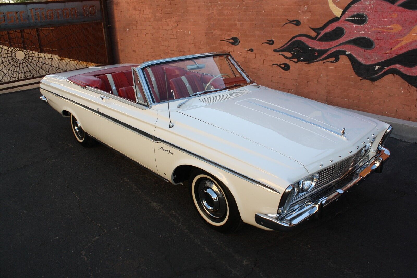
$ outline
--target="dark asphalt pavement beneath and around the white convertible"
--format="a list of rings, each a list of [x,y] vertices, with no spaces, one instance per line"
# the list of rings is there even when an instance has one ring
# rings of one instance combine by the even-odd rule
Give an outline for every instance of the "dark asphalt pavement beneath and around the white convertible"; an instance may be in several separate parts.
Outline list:
[[[222,234],[188,188],[80,146],[39,89],[0,95],[2,277],[417,275],[417,144],[390,138],[382,174],[299,231]]]

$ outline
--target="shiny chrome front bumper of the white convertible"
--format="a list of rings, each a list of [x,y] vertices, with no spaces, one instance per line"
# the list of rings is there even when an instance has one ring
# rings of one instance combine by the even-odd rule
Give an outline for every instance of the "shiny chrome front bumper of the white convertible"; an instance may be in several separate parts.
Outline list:
[[[382,148],[381,151],[374,156],[372,159],[369,159],[365,164],[359,168],[359,173],[354,175],[352,181],[349,181],[347,184],[342,186],[340,189],[333,191],[326,196],[317,199],[316,201],[310,201],[304,206],[297,208],[295,212],[288,213],[285,216],[280,216],[276,214],[255,214],[255,221],[261,226],[270,228],[277,231],[288,231],[294,228],[301,222],[305,222],[311,217],[319,217],[322,208],[327,206],[332,201],[339,198],[345,191],[349,188],[358,184],[364,179],[366,179],[373,171],[381,173],[382,164],[389,159],[390,152],[388,149]],[[358,171],[358,170],[356,170]]]

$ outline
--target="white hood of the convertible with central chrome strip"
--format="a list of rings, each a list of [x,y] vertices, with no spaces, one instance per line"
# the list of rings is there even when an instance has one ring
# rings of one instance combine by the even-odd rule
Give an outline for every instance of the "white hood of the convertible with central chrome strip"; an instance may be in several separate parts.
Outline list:
[[[267,88],[178,112],[294,159],[309,173],[355,153],[364,137],[379,133],[377,120]]]

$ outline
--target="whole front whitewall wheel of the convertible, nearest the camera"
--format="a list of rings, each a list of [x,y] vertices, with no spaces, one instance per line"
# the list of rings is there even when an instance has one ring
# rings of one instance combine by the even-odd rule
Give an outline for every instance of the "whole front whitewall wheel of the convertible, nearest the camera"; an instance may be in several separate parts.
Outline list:
[[[194,207],[216,231],[233,233],[243,226],[236,201],[227,187],[210,174],[195,170],[190,176]]]

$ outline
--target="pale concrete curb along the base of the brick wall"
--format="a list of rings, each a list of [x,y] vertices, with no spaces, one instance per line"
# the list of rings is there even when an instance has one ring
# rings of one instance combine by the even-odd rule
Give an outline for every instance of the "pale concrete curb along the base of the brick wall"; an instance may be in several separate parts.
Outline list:
[[[340,107],[342,108],[342,107]],[[350,112],[354,112],[357,114],[361,114],[367,117],[371,117],[382,122],[386,122],[387,124],[392,125],[392,132],[391,136],[396,139],[401,139],[402,141],[410,142],[410,143],[417,143],[417,122],[406,121],[402,119],[395,119],[387,116],[381,116],[376,114],[371,114],[367,112],[361,112],[353,109],[347,109]]]

